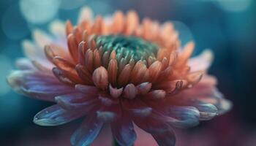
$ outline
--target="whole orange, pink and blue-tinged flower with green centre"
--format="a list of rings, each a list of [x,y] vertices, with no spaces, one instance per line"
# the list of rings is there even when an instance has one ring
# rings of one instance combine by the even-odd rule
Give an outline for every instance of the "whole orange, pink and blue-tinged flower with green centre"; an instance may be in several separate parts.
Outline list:
[[[56,103],[34,116],[40,126],[86,117],[72,145],[91,145],[105,124],[118,145],[134,144],[135,125],[158,145],[175,145],[173,127],[230,109],[207,74],[211,51],[190,58],[194,43],[181,47],[170,22],[140,22],[135,11],[92,18],[84,8],[77,26],[54,21],[50,32],[35,30],[34,41],[23,42],[27,58],[8,82],[18,93]]]

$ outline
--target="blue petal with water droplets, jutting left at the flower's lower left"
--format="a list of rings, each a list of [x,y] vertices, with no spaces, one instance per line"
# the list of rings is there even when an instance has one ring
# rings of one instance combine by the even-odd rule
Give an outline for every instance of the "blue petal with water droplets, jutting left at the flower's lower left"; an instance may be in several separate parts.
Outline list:
[[[39,126],[59,126],[83,115],[83,110],[64,110],[56,104],[38,112],[34,116],[34,123]]]

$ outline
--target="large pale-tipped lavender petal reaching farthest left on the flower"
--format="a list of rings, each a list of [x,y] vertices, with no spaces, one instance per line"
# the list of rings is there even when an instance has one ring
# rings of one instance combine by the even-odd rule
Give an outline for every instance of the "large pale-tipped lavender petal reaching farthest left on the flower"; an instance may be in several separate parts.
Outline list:
[[[75,88],[64,85],[56,77],[34,71],[15,71],[7,77],[14,91],[36,99],[54,101],[55,96],[75,93]]]

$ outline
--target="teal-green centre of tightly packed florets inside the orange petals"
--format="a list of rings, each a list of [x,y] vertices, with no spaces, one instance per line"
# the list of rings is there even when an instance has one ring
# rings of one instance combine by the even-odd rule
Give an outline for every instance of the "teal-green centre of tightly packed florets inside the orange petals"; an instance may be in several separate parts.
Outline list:
[[[139,37],[122,35],[104,35],[97,37],[97,45],[102,46],[103,52],[116,51],[116,58],[129,58],[144,61],[148,57],[155,58],[158,46]]]

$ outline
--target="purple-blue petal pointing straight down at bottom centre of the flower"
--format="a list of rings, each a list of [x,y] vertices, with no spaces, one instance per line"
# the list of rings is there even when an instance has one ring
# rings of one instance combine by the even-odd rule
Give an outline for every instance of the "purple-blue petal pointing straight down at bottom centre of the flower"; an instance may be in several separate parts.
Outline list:
[[[132,125],[132,120],[122,118],[111,123],[113,137],[121,146],[131,146],[136,139],[135,130]]]

